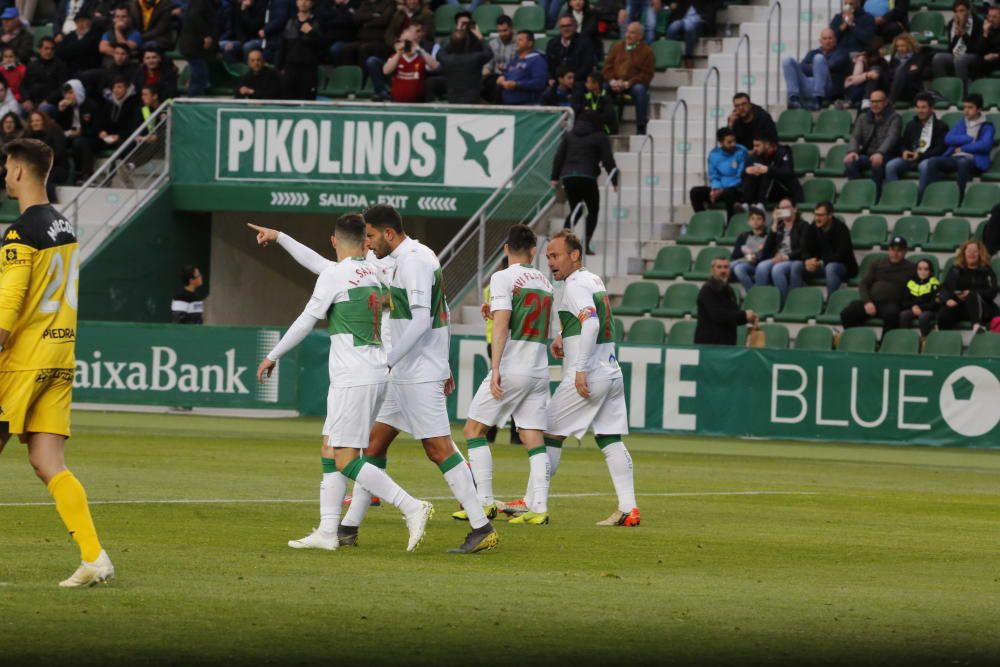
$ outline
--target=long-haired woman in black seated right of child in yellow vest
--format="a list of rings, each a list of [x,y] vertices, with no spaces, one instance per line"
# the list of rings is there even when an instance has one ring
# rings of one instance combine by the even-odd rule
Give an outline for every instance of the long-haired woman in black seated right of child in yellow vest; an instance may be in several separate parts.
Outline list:
[[[954,329],[960,321],[973,328],[989,329],[998,312],[997,276],[990,267],[990,256],[982,242],[970,239],[962,244],[955,264],[941,285],[944,305],[938,313],[939,329]]]

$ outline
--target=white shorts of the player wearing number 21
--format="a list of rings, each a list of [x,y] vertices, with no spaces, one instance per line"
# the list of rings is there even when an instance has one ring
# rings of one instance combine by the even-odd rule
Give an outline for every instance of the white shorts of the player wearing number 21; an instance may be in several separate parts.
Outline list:
[[[490,392],[492,371],[479,385],[469,405],[469,419],[487,426],[500,426],[514,415],[518,428],[544,431],[548,425],[546,410],[549,405],[548,379],[525,375],[504,375],[501,382],[503,398],[497,400]]]

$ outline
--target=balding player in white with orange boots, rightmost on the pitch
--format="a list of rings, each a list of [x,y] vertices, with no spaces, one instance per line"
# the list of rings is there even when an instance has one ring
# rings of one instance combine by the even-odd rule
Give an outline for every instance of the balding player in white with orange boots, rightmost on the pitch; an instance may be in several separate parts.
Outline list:
[[[553,236],[546,248],[552,276],[566,283],[558,307],[562,331],[552,343],[552,353],[563,360],[563,379],[549,401],[546,450],[555,475],[562,441],[593,429],[618,494],[618,509],[598,525],[638,526],[632,457],[622,442],[628,413],[615,355],[614,316],[604,281],[583,268],[582,257],[580,239],[569,231]],[[525,503],[530,502],[529,489]]]

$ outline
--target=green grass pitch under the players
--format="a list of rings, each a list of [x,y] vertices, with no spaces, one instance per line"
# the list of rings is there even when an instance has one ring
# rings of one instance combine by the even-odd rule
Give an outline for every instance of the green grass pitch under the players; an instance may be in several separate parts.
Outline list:
[[[437,507],[424,544],[382,507],[329,553],[286,546],[318,521],[319,420],[74,419],[118,578],[56,587],[75,545],[8,444],[0,664],[1000,664],[1000,452],[632,436],[623,529],[594,525],[607,469],[568,441],[552,524],[498,522],[462,557],[467,524],[401,439],[389,471]],[[519,496],[524,451],[493,451]]]

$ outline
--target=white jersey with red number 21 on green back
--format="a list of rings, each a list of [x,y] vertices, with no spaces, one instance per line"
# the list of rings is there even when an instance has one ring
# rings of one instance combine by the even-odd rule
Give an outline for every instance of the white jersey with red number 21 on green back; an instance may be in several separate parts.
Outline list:
[[[500,360],[501,376],[547,379],[552,284],[530,264],[498,271],[490,278],[490,310],[511,311],[510,336]]]

